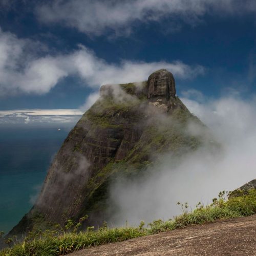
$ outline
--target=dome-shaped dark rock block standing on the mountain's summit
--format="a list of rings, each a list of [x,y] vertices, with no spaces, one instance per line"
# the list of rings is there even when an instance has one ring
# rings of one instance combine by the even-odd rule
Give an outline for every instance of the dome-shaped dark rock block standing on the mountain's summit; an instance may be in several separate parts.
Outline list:
[[[166,69],[160,69],[148,77],[147,98],[163,97],[167,101],[175,97],[175,80],[172,73]]]

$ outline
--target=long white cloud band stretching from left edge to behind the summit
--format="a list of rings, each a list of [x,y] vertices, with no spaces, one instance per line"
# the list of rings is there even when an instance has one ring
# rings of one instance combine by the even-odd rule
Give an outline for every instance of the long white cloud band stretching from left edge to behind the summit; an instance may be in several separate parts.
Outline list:
[[[32,46],[41,48],[44,56],[32,51]],[[142,81],[161,68],[184,79],[204,73],[202,66],[189,66],[182,61],[147,63],[122,60],[118,64],[108,63],[84,46],[68,54],[50,55],[38,42],[19,39],[0,30],[0,96],[45,94],[70,75],[79,77],[84,84],[94,88],[106,83]]]

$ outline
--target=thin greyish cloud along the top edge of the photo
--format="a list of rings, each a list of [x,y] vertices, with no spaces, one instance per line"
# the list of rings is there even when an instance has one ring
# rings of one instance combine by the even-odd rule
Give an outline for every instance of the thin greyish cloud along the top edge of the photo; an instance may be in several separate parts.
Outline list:
[[[183,23],[197,25],[205,14],[255,14],[256,4],[253,0],[73,0],[44,4],[36,12],[44,23],[59,22],[87,34],[120,35],[130,33],[138,23],[163,18],[176,30]]]

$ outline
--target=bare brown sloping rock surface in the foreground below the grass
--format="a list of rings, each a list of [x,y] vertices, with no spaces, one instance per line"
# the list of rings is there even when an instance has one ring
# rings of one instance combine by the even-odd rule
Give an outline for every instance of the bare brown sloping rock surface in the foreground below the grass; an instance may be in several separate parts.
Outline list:
[[[95,246],[69,255],[256,255],[256,215]]]

